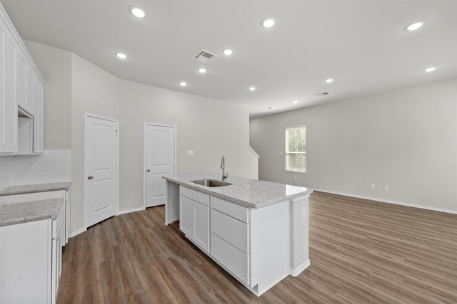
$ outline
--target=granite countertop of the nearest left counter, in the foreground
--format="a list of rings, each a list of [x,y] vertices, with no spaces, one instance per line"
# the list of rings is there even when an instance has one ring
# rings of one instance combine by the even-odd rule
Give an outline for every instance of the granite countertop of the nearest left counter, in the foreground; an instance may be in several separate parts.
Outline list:
[[[41,219],[56,219],[62,206],[64,206],[63,199],[44,199],[0,205],[0,226]]]

